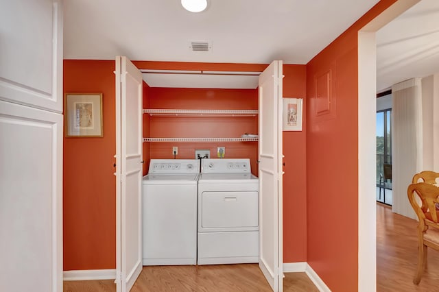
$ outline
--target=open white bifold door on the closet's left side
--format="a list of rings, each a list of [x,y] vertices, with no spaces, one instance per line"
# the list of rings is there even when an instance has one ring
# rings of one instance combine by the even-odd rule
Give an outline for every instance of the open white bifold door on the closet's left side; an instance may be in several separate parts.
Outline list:
[[[116,283],[130,291],[142,270],[142,74],[116,57]]]

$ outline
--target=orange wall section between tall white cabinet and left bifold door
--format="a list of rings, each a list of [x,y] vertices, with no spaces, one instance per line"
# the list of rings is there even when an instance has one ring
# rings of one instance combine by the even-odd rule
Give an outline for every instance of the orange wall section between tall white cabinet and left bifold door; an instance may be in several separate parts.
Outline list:
[[[65,138],[64,271],[115,269],[115,61],[64,60],[64,93],[102,93],[103,138]]]

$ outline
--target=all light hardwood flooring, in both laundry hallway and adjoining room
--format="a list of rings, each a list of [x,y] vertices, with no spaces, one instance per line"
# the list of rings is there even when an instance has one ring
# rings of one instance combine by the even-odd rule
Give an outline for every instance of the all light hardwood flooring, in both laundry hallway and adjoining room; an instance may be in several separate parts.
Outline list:
[[[439,252],[429,250],[420,284],[413,284],[417,263],[415,220],[377,204],[377,291],[439,291]],[[286,273],[284,291],[318,291],[305,273]],[[64,291],[116,291],[113,280],[65,281]],[[257,265],[143,267],[132,292],[271,291]]]

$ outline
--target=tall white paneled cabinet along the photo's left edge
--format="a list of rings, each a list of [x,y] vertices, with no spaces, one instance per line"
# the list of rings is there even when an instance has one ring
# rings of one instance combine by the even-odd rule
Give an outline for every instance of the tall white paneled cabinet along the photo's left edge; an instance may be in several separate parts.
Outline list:
[[[1,1],[0,291],[62,291],[62,3]]]

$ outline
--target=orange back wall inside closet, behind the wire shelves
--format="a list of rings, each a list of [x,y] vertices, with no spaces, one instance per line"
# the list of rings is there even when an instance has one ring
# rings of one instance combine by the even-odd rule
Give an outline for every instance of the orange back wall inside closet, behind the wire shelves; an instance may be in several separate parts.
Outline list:
[[[148,88],[151,108],[257,109],[257,89]],[[160,117],[149,118],[151,137],[240,137],[257,134],[258,117]],[[257,142],[150,143],[151,158],[195,158],[195,149],[209,149],[215,158],[217,147],[226,147],[226,158],[250,158],[257,174]]]

